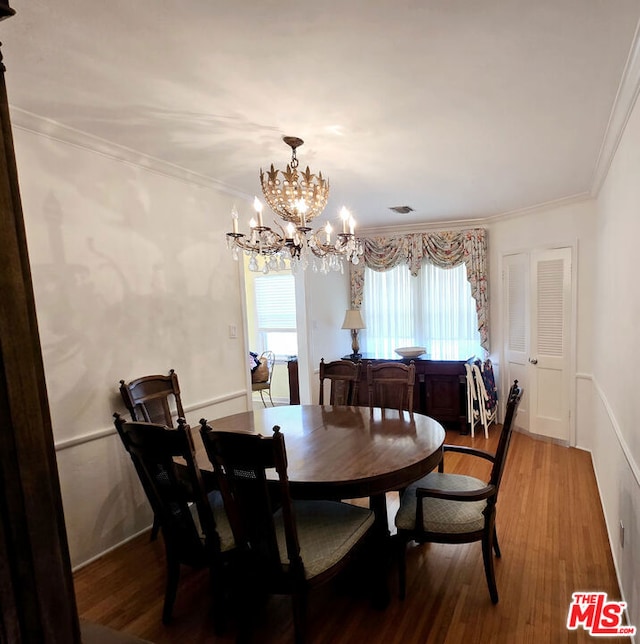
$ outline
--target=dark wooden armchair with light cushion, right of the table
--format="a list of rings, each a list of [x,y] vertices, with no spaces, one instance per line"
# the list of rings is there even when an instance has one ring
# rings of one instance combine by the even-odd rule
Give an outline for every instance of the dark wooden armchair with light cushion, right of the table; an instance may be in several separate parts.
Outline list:
[[[442,460],[438,472],[427,474],[402,494],[395,518],[398,529],[398,579],[401,599],[404,599],[406,592],[405,551],[409,541],[481,541],[489,594],[491,601],[494,604],[498,603],[492,556],[492,550],[496,557],[501,556],[495,527],[496,501],[511,441],[513,421],[521,398],[522,388],[518,386],[518,381],[514,380],[509,391],[505,419],[495,454],[461,445],[443,446],[445,452],[459,452],[492,462],[488,482],[463,474],[447,474],[444,472]]]

